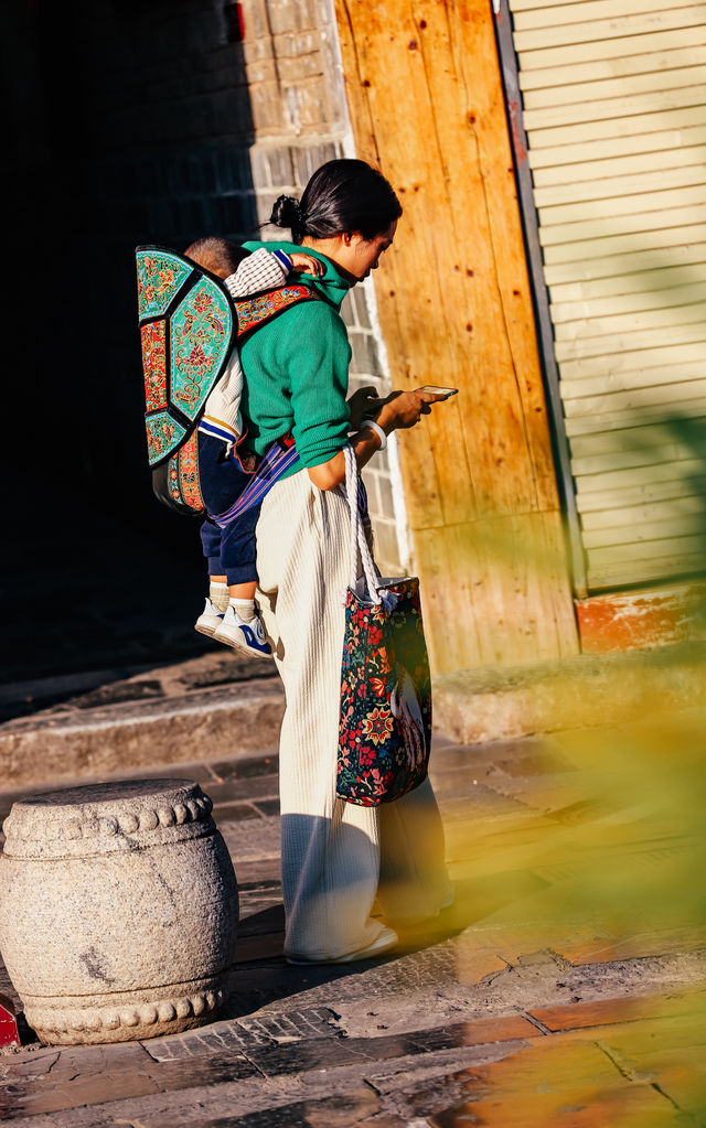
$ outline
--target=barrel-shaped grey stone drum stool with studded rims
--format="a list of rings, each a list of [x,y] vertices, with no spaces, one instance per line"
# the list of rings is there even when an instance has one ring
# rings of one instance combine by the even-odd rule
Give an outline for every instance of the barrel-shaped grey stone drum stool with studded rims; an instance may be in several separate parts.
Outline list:
[[[39,1038],[170,1034],[226,997],[238,887],[189,779],[98,784],[15,803],[0,858],[0,950]]]

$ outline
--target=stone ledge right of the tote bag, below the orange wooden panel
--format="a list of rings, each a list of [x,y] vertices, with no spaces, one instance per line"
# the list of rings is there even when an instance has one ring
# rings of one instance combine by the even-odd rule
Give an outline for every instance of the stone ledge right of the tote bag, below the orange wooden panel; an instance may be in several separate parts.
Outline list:
[[[434,729],[464,744],[626,723],[705,704],[704,643],[434,679]]]

